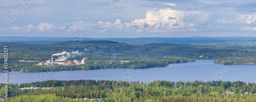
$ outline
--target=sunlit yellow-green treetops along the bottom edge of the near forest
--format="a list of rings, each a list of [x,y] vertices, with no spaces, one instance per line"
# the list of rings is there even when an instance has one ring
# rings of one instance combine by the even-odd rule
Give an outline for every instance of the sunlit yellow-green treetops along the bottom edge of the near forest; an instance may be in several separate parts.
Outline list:
[[[67,90],[65,90],[67,91]],[[73,92],[73,91],[68,91],[68,92]],[[140,92],[140,91],[138,91]],[[62,92],[63,93],[63,92]],[[93,92],[95,93],[95,92]],[[98,93],[96,93],[98,94]],[[87,95],[87,94],[85,94]],[[129,96],[125,96],[121,93],[117,93],[118,96],[114,98],[93,98],[94,101],[229,101],[229,102],[236,102],[236,101],[256,101],[255,95],[243,95],[243,96],[232,96],[232,95],[215,95],[215,94],[200,94],[200,93],[192,93],[192,94],[179,94],[175,96],[166,96],[166,97],[156,97],[152,96],[152,98],[133,98]],[[120,98],[119,98],[120,97]],[[125,99],[126,97],[126,99]],[[19,95],[19,96],[14,96],[11,98],[4,99],[3,102],[5,101],[38,101],[38,102],[43,102],[43,101],[87,101],[90,102],[91,100],[83,99],[83,98],[69,98],[69,97],[61,97],[57,96],[55,94],[50,94],[50,93],[29,93],[29,94],[24,94],[24,95]]]

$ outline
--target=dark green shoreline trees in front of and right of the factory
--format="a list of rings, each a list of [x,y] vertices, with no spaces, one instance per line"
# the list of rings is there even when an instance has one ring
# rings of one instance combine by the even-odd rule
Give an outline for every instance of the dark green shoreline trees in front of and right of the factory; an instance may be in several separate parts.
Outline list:
[[[74,60],[71,58],[70,60]],[[82,59],[82,58],[81,58]],[[103,61],[102,61],[103,60]],[[131,61],[131,62],[120,62]],[[166,67],[171,63],[195,62],[195,59],[181,57],[110,57],[110,56],[90,56],[86,64],[82,65],[35,65],[39,62],[16,62],[9,64],[10,71],[41,72],[41,71],[62,71],[62,70],[92,70],[104,68],[152,68]],[[3,71],[1,68],[0,71]]]

